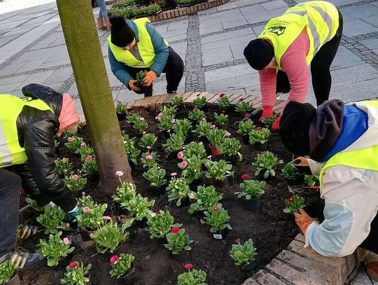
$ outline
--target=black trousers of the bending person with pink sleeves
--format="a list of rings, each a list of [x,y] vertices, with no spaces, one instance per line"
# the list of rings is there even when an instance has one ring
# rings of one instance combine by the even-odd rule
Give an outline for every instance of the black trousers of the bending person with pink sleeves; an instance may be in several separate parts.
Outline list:
[[[342,38],[343,20],[339,11],[339,27],[333,38],[325,43],[318,53],[311,60],[312,88],[316,97],[316,104],[319,106],[330,97],[332,78],[330,76],[330,66],[339,48]],[[285,72],[279,70],[276,78],[276,92],[287,93],[290,91],[290,83]]]

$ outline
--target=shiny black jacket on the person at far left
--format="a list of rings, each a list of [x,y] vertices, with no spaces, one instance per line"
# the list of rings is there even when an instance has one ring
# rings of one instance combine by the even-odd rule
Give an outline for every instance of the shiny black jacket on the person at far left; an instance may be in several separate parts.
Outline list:
[[[57,174],[55,166],[55,135],[59,130],[62,94],[43,85],[29,84],[22,88],[25,97],[42,99],[52,111],[25,106],[17,119],[18,140],[25,148],[27,162],[13,165],[13,172],[22,179],[22,187],[39,206],[50,201],[64,211],[76,206],[76,198]]]

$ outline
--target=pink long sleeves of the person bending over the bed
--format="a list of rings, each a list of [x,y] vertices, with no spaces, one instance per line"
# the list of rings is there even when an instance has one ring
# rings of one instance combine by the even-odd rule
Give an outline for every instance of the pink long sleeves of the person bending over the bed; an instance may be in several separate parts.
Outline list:
[[[309,52],[309,36],[306,28],[288,47],[281,57],[281,69],[288,75],[290,93],[288,101],[304,103],[309,90],[309,67],[306,55]],[[276,69],[258,71],[262,106],[274,106],[276,101]],[[286,102],[286,103],[287,103]]]

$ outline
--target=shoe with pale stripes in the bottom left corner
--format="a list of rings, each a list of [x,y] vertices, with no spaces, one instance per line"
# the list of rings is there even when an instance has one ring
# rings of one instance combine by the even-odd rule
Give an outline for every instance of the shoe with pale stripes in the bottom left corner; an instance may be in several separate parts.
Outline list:
[[[39,253],[10,251],[0,257],[0,263],[10,260],[18,270],[30,269],[43,264],[43,256]]]

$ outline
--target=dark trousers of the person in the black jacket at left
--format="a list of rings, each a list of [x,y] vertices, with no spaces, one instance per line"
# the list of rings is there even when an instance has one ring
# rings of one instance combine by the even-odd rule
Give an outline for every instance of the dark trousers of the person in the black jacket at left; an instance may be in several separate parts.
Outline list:
[[[0,168],[0,256],[15,246],[20,188],[20,176]]]

